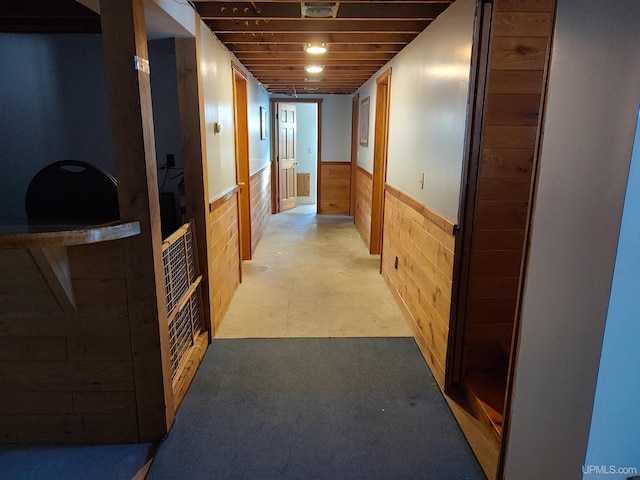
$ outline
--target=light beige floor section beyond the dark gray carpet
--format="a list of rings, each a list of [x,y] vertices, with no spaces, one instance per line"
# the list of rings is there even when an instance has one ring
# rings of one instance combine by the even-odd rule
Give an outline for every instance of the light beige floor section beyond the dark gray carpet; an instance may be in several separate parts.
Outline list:
[[[217,338],[412,336],[353,217],[272,215]]]

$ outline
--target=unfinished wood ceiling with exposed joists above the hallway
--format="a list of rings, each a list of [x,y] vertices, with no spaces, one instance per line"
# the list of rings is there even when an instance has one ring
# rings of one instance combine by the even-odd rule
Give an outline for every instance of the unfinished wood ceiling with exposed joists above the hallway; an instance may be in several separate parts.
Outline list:
[[[192,0],[222,43],[270,93],[353,93],[453,0]],[[325,44],[325,54],[305,52]],[[307,73],[307,65],[321,65]]]

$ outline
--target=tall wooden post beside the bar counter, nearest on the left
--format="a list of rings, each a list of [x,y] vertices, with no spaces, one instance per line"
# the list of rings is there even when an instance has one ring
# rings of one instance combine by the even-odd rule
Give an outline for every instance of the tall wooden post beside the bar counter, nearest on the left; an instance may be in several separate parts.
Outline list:
[[[148,442],[162,438],[175,411],[144,0],[100,0],[100,17],[120,218],[140,222],[125,261],[139,439]]]

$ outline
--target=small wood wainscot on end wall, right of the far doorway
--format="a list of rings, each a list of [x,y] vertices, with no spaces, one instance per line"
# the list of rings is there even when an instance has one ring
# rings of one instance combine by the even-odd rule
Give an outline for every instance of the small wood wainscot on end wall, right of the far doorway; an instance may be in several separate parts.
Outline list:
[[[351,162],[320,163],[320,213],[349,215]]]

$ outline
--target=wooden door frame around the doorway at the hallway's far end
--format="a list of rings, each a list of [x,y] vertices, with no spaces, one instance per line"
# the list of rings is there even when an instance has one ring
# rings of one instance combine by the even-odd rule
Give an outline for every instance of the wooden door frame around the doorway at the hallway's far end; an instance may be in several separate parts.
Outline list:
[[[276,116],[279,103],[315,103],[318,105],[317,118],[317,160],[316,167],[316,213],[320,213],[320,166],[322,162],[322,98],[272,98],[269,100],[271,110],[271,213],[280,213],[280,162],[278,160],[278,118]]]

